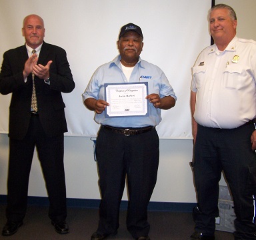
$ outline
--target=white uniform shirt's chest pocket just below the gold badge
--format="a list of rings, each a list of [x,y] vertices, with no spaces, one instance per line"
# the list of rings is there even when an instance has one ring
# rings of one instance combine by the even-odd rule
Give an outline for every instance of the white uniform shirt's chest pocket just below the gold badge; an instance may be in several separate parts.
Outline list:
[[[223,71],[223,87],[226,89],[238,89],[241,73],[243,73],[243,69],[239,65],[227,65]]]

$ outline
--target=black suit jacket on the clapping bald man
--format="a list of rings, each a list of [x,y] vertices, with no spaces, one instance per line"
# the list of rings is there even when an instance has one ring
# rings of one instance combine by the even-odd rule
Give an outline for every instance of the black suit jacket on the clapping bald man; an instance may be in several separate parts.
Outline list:
[[[31,118],[32,76],[23,79],[23,69],[27,61],[25,45],[10,49],[3,55],[3,65],[0,73],[0,93],[12,93],[9,109],[9,137],[23,139],[29,127]],[[49,137],[63,134],[67,131],[65,119],[65,103],[61,92],[70,93],[75,83],[67,61],[64,49],[43,42],[37,64],[50,66],[50,85],[35,76],[37,107],[43,130]]]

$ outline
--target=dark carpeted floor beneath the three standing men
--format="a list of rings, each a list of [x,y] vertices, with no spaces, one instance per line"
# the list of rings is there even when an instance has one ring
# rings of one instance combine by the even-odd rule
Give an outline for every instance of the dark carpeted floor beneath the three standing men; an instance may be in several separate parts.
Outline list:
[[[69,233],[59,235],[55,232],[47,216],[47,207],[29,206],[24,224],[17,233],[9,237],[0,235],[5,240],[90,240],[91,234],[97,229],[98,210],[84,208],[69,208],[67,223]],[[108,240],[132,240],[125,227],[126,211],[120,212],[120,227],[117,235]],[[151,240],[187,240],[193,233],[193,219],[191,213],[149,211]],[[0,205],[0,228],[5,225],[5,205]],[[216,240],[233,240],[233,234],[223,231],[215,232]]]

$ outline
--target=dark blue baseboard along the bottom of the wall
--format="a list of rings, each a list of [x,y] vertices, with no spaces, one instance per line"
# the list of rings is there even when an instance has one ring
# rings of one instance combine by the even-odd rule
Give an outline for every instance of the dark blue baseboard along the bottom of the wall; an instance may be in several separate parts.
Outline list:
[[[100,199],[67,199],[67,207],[83,207],[83,208],[98,208]],[[48,197],[31,197],[27,199],[28,205],[48,206]],[[7,195],[0,195],[0,205],[7,204]],[[128,201],[121,201],[120,209],[127,209]],[[149,211],[179,211],[192,212],[196,203],[169,203],[169,202],[149,202]]]

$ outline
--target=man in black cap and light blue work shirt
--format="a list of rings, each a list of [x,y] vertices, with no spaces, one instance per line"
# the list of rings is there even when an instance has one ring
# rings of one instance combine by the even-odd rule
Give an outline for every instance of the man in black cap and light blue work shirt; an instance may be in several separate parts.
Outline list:
[[[155,126],[161,121],[161,109],[174,107],[177,97],[163,71],[139,57],[143,49],[140,27],[133,23],[121,27],[117,46],[120,54],[95,71],[83,93],[85,106],[95,111],[95,121],[101,124],[96,155],[102,199],[99,226],[91,240],[117,233],[126,176],[127,229],[135,239],[149,240],[147,205],[159,165],[159,137]],[[105,111],[114,103],[105,101],[105,83],[148,85],[147,114],[131,116],[124,112],[119,117],[109,117]]]

